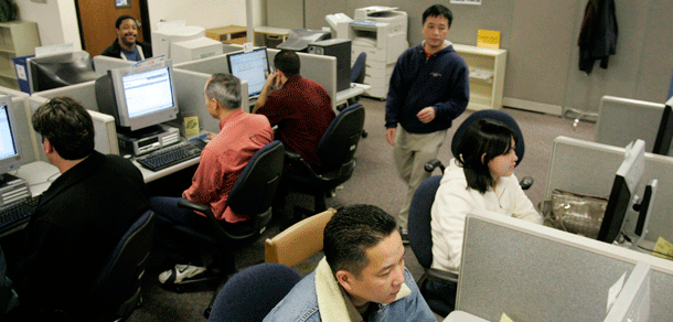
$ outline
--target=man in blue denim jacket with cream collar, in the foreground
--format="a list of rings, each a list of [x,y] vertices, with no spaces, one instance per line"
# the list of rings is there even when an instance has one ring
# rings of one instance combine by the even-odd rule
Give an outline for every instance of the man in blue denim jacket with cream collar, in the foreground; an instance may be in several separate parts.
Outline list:
[[[324,258],[264,321],[437,321],[404,266],[393,216],[371,205],[338,212]]]

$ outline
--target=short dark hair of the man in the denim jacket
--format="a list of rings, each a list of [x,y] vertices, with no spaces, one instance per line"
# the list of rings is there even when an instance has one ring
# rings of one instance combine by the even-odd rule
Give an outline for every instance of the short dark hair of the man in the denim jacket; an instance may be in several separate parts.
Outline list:
[[[324,227],[323,246],[333,273],[348,270],[360,276],[368,265],[366,250],[391,236],[395,218],[373,205],[352,205],[336,212]]]

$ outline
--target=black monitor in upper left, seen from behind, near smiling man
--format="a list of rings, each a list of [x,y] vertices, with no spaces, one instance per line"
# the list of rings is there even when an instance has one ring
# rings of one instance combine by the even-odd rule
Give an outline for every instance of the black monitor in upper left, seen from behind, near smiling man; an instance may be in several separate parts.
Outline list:
[[[87,52],[73,52],[28,60],[31,93],[96,80]]]

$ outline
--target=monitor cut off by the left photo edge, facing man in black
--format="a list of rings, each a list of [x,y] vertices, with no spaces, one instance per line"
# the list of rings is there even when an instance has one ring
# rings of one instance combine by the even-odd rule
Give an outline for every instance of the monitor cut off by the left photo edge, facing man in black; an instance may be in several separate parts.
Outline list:
[[[6,181],[6,173],[21,167],[21,149],[12,118],[11,97],[0,96],[0,182]]]

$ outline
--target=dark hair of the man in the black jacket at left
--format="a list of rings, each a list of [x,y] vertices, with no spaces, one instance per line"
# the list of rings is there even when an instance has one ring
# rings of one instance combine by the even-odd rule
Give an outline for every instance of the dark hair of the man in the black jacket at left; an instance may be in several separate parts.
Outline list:
[[[79,160],[94,151],[92,116],[70,97],[50,99],[35,110],[32,122],[35,132],[49,139],[65,160]]]

